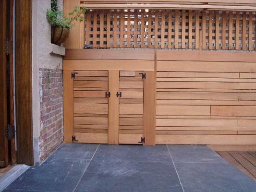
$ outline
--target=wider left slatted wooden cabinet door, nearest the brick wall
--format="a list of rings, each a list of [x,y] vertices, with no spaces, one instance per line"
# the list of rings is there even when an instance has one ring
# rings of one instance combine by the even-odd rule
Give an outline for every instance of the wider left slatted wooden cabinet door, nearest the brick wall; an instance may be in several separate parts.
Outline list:
[[[76,71],[73,79],[75,143],[108,143],[108,71]]]

